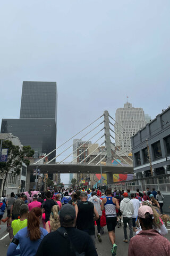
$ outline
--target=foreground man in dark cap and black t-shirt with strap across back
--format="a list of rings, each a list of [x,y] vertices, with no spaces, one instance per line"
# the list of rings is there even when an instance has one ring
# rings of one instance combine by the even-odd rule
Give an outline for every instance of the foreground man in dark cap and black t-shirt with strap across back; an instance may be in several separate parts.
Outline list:
[[[98,255],[88,233],[74,228],[76,214],[73,205],[65,204],[62,206],[60,223],[60,228],[43,238],[36,256]]]

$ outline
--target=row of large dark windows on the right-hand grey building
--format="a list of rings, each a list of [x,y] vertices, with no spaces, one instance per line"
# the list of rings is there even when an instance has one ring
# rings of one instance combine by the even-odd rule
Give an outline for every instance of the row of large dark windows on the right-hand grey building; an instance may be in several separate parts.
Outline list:
[[[166,148],[166,155],[170,155],[170,135],[164,138],[164,143]],[[153,143],[151,145],[151,150],[152,150],[152,158],[154,160],[162,157],[162,149],[160,146],[160,141]],[[143,157],[143,163],[149,162],[148,148],[142,149],[142,157]],[[135,166],[141,165],[140,151],[134,154],[134,159],[135,159]]]

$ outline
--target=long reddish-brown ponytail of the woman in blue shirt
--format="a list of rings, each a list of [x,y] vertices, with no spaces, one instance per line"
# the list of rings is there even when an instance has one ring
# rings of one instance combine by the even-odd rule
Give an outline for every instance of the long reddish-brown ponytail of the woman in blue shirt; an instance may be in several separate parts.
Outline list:
[[[36,241],[41,237],[41,231],[39,228],[40,218],[42,215],[41,209],[38,207],[33,208],[28,213],[28,234],[31,241]]]

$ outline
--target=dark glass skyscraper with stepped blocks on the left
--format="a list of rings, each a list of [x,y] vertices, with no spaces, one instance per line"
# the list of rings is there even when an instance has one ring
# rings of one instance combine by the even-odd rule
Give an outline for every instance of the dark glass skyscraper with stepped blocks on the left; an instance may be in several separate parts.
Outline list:
[[[20,119],[2,119],[1,133],[11,132],[22,145],[48,154],[56,148],[56,123],[56,82],[23,82]]]

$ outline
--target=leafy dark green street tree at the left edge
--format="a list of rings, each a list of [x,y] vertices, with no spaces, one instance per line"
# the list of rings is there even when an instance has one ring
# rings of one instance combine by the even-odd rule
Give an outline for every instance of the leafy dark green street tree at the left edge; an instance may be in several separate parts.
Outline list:
[[[31,149],[30,146],[23,146],[20,149],[19,146],[14,146],[12,141],[10,140],[4,140],[2,143],[2,148],[8,148],[7,162],[0,162],[0,175],[4,179],[2,189],[3,194],[7,174],[11,171],[13,175],[20,175],[22,162],[28,166],[30,164],[30,161],[26,157],[33,156],[34,150]]]

